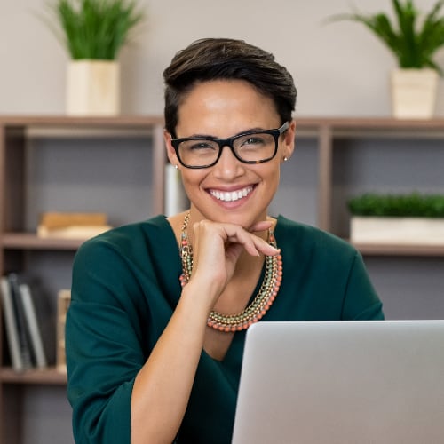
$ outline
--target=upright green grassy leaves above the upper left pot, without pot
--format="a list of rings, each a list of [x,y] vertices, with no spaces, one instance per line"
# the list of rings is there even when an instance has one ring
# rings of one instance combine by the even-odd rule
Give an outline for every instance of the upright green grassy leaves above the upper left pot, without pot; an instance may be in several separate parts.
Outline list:
[[[45,22],[59,36],[71,59],[117,59],[131,31],[145,18],[136,0],[55,0],[53,20]]]

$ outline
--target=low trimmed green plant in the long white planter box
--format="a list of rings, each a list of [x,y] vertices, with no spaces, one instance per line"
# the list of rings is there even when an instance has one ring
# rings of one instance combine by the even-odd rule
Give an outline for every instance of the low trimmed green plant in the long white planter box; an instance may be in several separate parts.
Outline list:
[[[365,193],[347,201],[353,216],[444,218],[443,194]]]

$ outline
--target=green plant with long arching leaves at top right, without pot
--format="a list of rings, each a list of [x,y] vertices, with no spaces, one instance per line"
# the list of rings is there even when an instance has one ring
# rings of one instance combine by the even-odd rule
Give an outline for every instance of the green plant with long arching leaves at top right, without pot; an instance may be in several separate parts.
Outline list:
[[[392,52],[401,68],[430,67],[443,75],[432,59],[444,46],[444,16],[440,15],[443,5],[444,0],[440,0],[430,12],[423,14],[413,0],[392,0],[396,20],[391,20],[385,12],[354,12],[336,15],[330,20],[353,20],[369,28]]]

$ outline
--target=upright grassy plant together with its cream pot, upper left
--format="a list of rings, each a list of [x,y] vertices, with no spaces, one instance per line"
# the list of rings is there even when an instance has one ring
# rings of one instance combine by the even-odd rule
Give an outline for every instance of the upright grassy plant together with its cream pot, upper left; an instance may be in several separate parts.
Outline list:
[[[68,115],[120,112],[119,52],[145,18],[136,0],[54,0],[46,23],[65,46]]]

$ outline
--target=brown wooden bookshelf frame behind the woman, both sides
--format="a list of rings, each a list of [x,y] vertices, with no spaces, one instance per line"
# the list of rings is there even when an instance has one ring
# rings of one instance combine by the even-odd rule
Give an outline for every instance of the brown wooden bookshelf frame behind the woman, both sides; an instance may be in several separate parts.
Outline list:
[[[60,253],[74,256],[83,240],[43,239],[26,224],[29,215],[28,170],[32,159],[36,161],[39,150],[32,147],[32,140],[60,140],[60,151],[64,144],[83,144],[91,139],[122,141],[122,150],[130,138],[147,140],[151,163],[146,165],[151,185],[146,190],[151,195],[150,214],[163,212],[164,165],[166,156],[163,147],[163,119],[160,116],[119,116],[106,118],[82,118],[67,116],[0,116],[0,274],[12,267],[29,271],[33,254],[51,255]],[[297,118],[297,140],[314,139],[317,150],[317,225],[336,232],[333,223],[337,202],[334,195],[334,158],[347,140],[366,140],[375,145],[380,139],[431,139],[437,141],[436,149],[444,147],[444,119],[426,121],[396,120],[392,118]],[[119,146],[120,147],[120,146]],[[72,149],[72,148],[71,148]],[[94,149],[94,148],[91,148]],[[120,148],[119,148],[120,149]],[[31,159],[31,155],[33,156]],[[107,159],[106,159],[107,161]],[[111,162],[111,160],[110,160]],[[117,165],[119,168],[119,165]],[[436,165],[442,169],[442,165]],[[108,178],[113,180],[113,178]],[[67,191],[71,191],[67,184]],[[106,184],[105,184],[106,185]],[[291,202],[286,202],[286,204]],[[344,202],[341,202],[344,203]],[[128,220],[131,221],[131,220]],[[342,234],[340,234],[342,235]],[[356,245],[366,256],[372,257],[424,257],[444,258],[442,246],[430,245]],[[20,271],[20,270],[19,270]],[[30,270],[32,271],[32,270]],[[3,322],[3,317],[0,317]],[[0,325],[1,327],[1,325]],[[3,331],[3,329],[0,329]],[[56,332],[54,331],[54,335]],[[5,346],[0,337],[0,353]],[[26,393],[28,385],[55,385],[63,387],[67,377],[52,367],[44,371],[30,370],[16,373],[10,367],[0,365],[0,406],[17,402]],[[16,392],[17,391],[17,392]],[[60,396],[66,396],[64,390]],[[8,441],[4,427],[6,414],[0,407],[0,444]],[[15,426],[20,428],[21,418]],[[20,435],[20,433],[18,433]],[[20,444],[20,440],[17,441]]]

